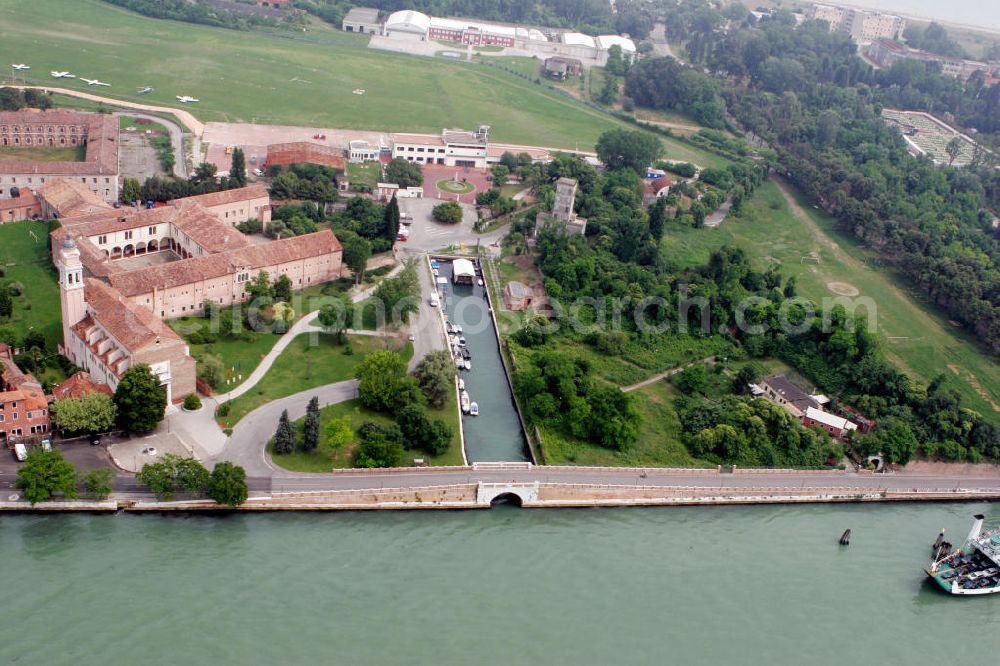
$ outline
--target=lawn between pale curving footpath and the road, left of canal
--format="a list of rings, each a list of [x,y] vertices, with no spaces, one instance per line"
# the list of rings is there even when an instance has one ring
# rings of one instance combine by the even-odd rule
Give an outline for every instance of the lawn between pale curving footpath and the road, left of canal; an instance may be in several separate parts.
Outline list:
[[[315,344],[314,344],[315,338]],[[401,349],[390,338],[372,335],[349,336],[352,354],[345,354],[345,347],[337,345],[332,335],[300,335],[285,348],[264,378],[235,400],[229,401],[229,415],[220,418],[223,428],[233,427],[241,418],[266,402],[284,398],[306,389],[352,379],[354,370],[365,354],[377,349],[390,348],[400,351],[404,360],[413,356],[413,345],[407,342]]]

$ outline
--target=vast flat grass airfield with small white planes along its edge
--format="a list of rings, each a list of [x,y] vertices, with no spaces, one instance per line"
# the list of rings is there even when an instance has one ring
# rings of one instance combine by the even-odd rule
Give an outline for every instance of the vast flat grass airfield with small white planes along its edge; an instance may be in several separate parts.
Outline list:
[[[274,36],[149,19],[98,0],[0,0],[0,60],[32,66],[27,83],[85,90],[51,69],[97,76],[99,94],[178,104],[202,120],[439,131],[487,123],[498,141],[590,149],[619,126],[565,95],[495,68],[366,48],[367,38],[314,25]],[[136,90],[152,86],[149,95]],[[353,95],[356,88],[364,95]],[[95,92],[94,89],[89,89]],[[677,159],[706,155],[668,142]]]

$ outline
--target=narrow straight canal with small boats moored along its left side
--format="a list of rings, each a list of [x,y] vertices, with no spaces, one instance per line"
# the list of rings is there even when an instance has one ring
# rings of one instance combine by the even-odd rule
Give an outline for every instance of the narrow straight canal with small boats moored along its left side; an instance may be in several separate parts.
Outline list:
[[[500,345],[489,313],[485,287],[454,284],[452,264],[440,261],[437,266],[438,291],[445,315],[462,328],[472,369],[459,370],[469,398],[479,406],[479,416],[462,415],[465,429],[465,453],[469,462],[530,460],[527,441],[517,418],[514,398],[500,360]]]

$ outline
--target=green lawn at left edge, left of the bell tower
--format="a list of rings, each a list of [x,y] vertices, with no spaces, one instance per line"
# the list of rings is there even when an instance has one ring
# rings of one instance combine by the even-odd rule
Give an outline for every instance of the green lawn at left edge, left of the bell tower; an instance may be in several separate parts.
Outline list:
[[[34,233],[34,238],[32,238]],[[0,318],[0,328],[10,327],[21,338],[29,330],[41,331],[49,349],[62,343],[59,276],[47,248],[49,225],[14,222],[0,225],[0,284],[17,282],[23,293],[14,298],[14,314]],[[41,378],[39,378],[41,379]]]

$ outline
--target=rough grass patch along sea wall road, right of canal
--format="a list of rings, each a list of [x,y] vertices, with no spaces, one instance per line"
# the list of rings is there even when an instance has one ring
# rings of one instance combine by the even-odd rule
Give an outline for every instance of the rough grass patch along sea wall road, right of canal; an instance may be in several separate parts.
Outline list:
[[[639,439],[631,450],[612,451],[569,440],[552,430],[542,431],[548,465],[597,465],[613,467],[704,467],[708,463],[688,453],[681,443],[681,424],[672,400],[676,392],[666,382],[657,382],[632,394],[642,416]]]

